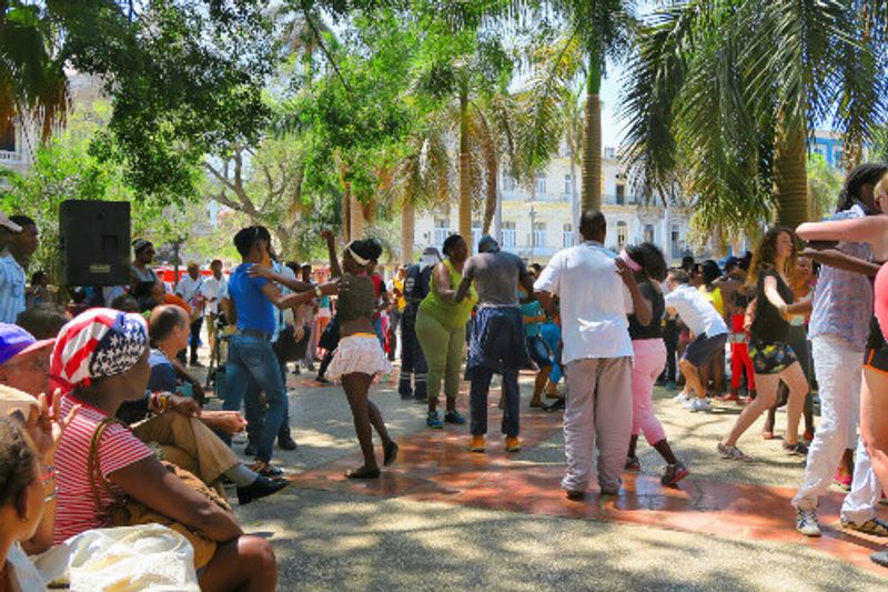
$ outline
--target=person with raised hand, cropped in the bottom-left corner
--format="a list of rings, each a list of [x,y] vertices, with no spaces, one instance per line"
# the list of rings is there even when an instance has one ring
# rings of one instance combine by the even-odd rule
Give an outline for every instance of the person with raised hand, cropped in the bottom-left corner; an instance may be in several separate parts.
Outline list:
[[[59,420],[59,397],[50,405],[40,395],[29,417],[0,418],[0,590],[46,590],[28,554],[52,542],[56,444],[71,421]],[[26,554],[28,553],[28,554]]]

